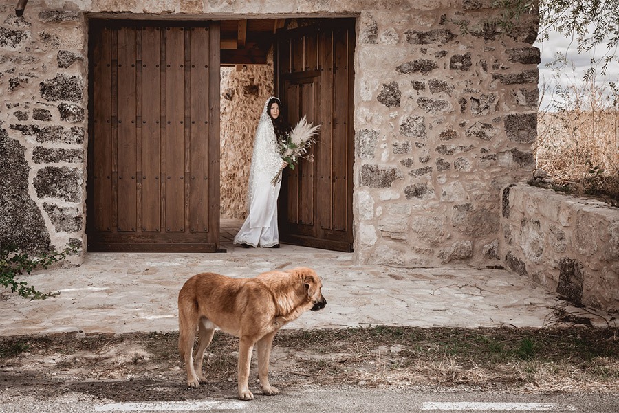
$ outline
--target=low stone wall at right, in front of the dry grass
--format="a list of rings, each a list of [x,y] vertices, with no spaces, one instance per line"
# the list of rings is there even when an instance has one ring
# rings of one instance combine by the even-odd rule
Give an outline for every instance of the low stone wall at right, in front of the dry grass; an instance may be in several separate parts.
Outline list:
[[[506,266],[574,304],[619,311],[619,208],[523,183],[502,194]]]

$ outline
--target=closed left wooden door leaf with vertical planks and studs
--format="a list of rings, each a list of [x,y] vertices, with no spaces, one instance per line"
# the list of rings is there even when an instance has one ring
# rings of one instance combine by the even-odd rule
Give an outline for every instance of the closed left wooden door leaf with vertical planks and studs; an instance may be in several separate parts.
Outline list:
[[[217,251],[219,23],[89,34],[89,251]]]

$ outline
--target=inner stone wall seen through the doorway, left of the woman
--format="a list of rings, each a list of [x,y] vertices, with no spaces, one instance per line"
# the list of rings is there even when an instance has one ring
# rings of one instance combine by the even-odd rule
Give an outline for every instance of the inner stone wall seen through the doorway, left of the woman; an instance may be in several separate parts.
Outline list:
[[[254,135],[273,93],[273,58],[267,65],[221,68],[221,217],[247,216],[246,194]]]

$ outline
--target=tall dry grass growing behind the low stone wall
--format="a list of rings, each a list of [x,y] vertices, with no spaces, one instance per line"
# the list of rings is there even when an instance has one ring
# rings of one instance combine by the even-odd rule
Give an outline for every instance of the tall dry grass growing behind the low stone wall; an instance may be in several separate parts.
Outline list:
[[[538,113],[537,168],[555,190],[619,206],[618,89],[572,78],[556,93],[552,107]]]

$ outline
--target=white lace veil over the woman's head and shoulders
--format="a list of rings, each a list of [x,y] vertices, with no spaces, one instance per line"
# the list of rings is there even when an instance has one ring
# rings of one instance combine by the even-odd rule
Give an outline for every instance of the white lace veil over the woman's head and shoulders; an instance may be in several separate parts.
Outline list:
[[[266,185],[272,186],[270,181],[277,175],[281,167],[281,157],[277,150],[277,139],[273,128],[273,121],[268,113],[268,104],[271,99],[276,99],[281,107],[279,98],[270,96],[265,104],[260,120],[256,128],[254,137],[254,152],[252,153],[252,164],[250,166],[249,188],[247,196],[247,208],[250,209],[254,192],[268,189]]]

